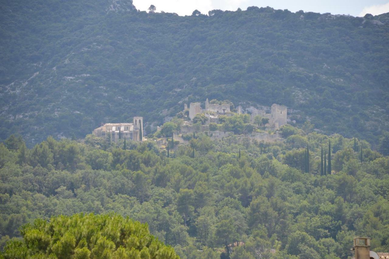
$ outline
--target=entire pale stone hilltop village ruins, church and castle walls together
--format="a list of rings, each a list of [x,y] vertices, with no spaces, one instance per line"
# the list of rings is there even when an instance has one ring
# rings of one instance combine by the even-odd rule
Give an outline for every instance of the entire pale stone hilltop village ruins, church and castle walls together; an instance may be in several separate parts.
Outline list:
[[[236,109],[231,110],[231,104],[225,102],[217,102],[216,100],[205,100],[205,109],[201,107],[200,102],[191,102],[189,108],[187,104],[184,104],[184,110],[182,114],[186,116],[186,120],[180,125],[180,130],[173,132],[173,138],[180,143],[187,143],[184,139],[185,134],[193,132],[203,132],[211,139],[221,139],[234,135],[234,132],[224,131],[222,127],[218,127],[217,130],[211,130],[210,123],[220,123],[219,118],[221,116],[233,116],[236,114],[248,114],[250,115],[250,123],[254,124],[256,116],[260,118],[267,118],[267,123],[263,125],[263,129],[270,130],[253,130],[251,133],[245,135],[238,135],[240,137],[249,137],[258,141],[274,142],[280,141],[281,137],[277,129],[282,125],[287,124],[287,107],[283,105],[273,104],[269,109],[256,109],[254,107],[246,108],[244,111],[242,106],[238,106]],[[207,121],[203,125],[194,123],[196,115],[202,114],[207,118]],[[218,124],[220,125],[220,124]],[[143,138],[143,118],[134,117],[133,123],[105,123],[101,127],[93,130],[93,134],[97,137],[110,137],[111,141],[117,142],[119,139],[131,139],[133,141],[142,141]],[[160,131],[162,127],[157,127],[157,131]],[[273,131],[273,132],[271,132]],[[163,145],[166,142],[166,138],[158,140],[159,145]]]

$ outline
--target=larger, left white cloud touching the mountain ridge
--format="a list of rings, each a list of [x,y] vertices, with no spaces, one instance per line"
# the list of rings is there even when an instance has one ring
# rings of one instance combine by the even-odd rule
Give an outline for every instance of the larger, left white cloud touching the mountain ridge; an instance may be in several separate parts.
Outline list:
[[[196,9],[202,14],[208,14],[213,9],[235,11],[249,0],[133,0],[135,7],[147,11],[150,5],[155,5],[157,12],[175,12],[181,16],[191,15]]]

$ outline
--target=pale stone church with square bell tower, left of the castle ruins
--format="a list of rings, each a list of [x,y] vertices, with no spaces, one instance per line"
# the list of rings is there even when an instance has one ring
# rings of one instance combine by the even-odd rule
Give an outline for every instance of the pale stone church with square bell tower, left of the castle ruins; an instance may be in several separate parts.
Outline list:
[[[117,142],[119,139],[141,141],[143,139],[143,117],[134,117],[133,123],[105,123],[92,132],[96,137],[108,138]]]

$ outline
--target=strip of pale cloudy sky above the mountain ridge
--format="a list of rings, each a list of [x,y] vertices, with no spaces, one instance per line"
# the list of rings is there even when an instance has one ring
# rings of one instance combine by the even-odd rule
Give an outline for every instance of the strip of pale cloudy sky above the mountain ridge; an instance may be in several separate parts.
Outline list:
[[[350,14],[364,16],[389,12],[388,0],[133,0],[137,9],[147,11],[151,4],[157,7],[157,12],[175,12],[179,15],[190,15],[195,9],[203,14],[213,9],[235,11],[240,7],[246,10],[248,6],[266,7],[274,9],[288,9],[296,12],[330,12],[331,14]]]

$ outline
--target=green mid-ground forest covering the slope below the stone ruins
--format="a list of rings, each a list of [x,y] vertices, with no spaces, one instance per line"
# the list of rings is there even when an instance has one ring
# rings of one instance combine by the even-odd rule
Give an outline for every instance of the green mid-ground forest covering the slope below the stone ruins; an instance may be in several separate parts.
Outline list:
[[[29,149],[12,135],[0,144],[0,247],[22,242],[21,235],[37,239],[28,231],[61,221],[35,218],[115,212],[147,222],[183,259],[347,259],[354,236],[389,251],[389,157],[357,138],[291,125],[281,133],[286,141],[278,143],[197,133],[188,145],[170,141],[169,157],[152,140],[127,140],[124,148],[123,140],[93,135],[48,137]],[[388,144],[386,134],[380,146]],[[322,148],[331,164],[326,175]],[[241,245],[227,254],[235,242]]]

